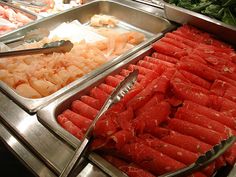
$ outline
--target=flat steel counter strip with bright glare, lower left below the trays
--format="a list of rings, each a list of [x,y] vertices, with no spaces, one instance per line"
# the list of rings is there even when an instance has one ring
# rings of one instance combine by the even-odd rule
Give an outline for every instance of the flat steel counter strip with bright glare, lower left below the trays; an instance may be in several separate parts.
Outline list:
[[[73,148],[60,141],[42,124],[35,115],[29,115],[7,96],[0,92],[1,121],[16,132],[19,139],[29,147],[39,159],[59,174],[72,157]]]

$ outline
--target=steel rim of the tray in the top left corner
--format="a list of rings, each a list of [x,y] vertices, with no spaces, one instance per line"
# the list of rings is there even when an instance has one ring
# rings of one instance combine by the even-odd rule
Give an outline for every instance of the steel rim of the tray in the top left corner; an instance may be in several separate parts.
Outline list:
[[[14,10],[15,12],[20,12],[20,13],[24,14],[25,16],[29,17],[29,18],[30,18],[31,20],[33,20],[33,21],[35,21],[35,20],[38,19],[38,16],[37,16],[36,14],[31,13],[30,11],[27,11],[27,10],[25,10],[25,9],[22,9],[22,8],[20,8],[20,7],[18,7],[18,6],[13,5],[13,4],[0,1],[0,5],[2,5],[2,6],[8,6],[8,7],[11,8],[12,10]],[[30,23],[28,23],[28,24],[31,24],[31,23],[32,23],[32,22],[30,22]],[[26,24],[26,25],[24,25],[24,26],[27,26],[28,24]],[[22,27],[19,27],[18,29],[12,30],[12,31],[10,31],[10,32],[6,32],[6,33],[4,33],[3,35],[0,35],[0,36],[1,36],[1,37],[6,36],[6,35],[8,35],[8,34],[13,33],[13,32],[16,31],[16,30],[21,29],[21,28],[22,28]],[[0,39],[1,39],[1,38],[0,38]],[[0,40],[0,41],[2,41],[2,40]]]

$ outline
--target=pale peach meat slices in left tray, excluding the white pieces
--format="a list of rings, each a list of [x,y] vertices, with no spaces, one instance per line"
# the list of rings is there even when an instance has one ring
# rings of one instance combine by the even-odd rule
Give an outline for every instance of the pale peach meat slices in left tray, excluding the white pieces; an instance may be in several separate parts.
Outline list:
[[[101,33],[107,36],[106,40],[93,44],[85,41],[74,43],[68,53],[2,58],[0,80],[23,97],[42,98],[144,40],[144,35],[137,32],[113,34],[113,37],[111,32]],[[56,39],[43,39],[40,42],[22,45],[18,49],[41,47],[52,40]]]

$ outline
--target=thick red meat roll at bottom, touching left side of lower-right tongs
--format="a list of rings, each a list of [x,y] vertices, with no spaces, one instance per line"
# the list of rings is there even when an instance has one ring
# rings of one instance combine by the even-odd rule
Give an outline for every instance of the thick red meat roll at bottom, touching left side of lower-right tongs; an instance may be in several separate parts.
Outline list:
[[[118,152],[155,175],[161,175],[184,167],[184,164],[143,143],[126,144]]]

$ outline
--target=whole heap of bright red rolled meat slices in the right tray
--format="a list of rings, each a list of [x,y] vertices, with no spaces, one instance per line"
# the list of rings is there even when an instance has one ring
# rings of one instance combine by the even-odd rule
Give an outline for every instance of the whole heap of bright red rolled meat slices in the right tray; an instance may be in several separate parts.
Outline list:
[[[162,175],[190,165],[235,135],[236,87],[234,72],[228,70],[235,67],[234,49],[189,25],[167,33],[152,48],[88,86],[91,89],[57,102],[57,117],[44,112],[39,118],[57,119],[81,140],[109,94],[138,69],[134,88],[94,129],[91,149],[117,168],[130,176]],[[68,107],[69,100],[74,101]],[[212,176],[233,165],[235,157],[233,146],[194,176]]]

